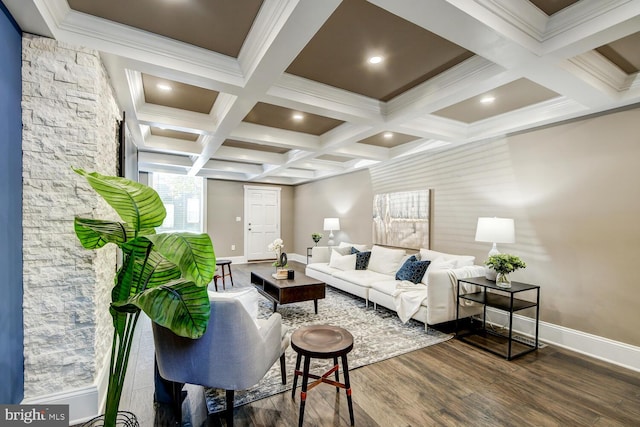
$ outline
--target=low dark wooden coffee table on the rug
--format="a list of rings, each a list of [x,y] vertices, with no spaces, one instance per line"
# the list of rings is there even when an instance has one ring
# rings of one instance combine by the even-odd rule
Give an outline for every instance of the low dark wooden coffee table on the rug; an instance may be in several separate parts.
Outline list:
[[[327,286],[324,282],[299,271],[296,271],[293,279],[275,279],[271,276],[273,273],[273,268],[251,272],[251,283],[262,295],[273,301],[273,311],[276,311],[278,304],[313,300],[313,307],[318,314],[318,300],[324,298]]]

